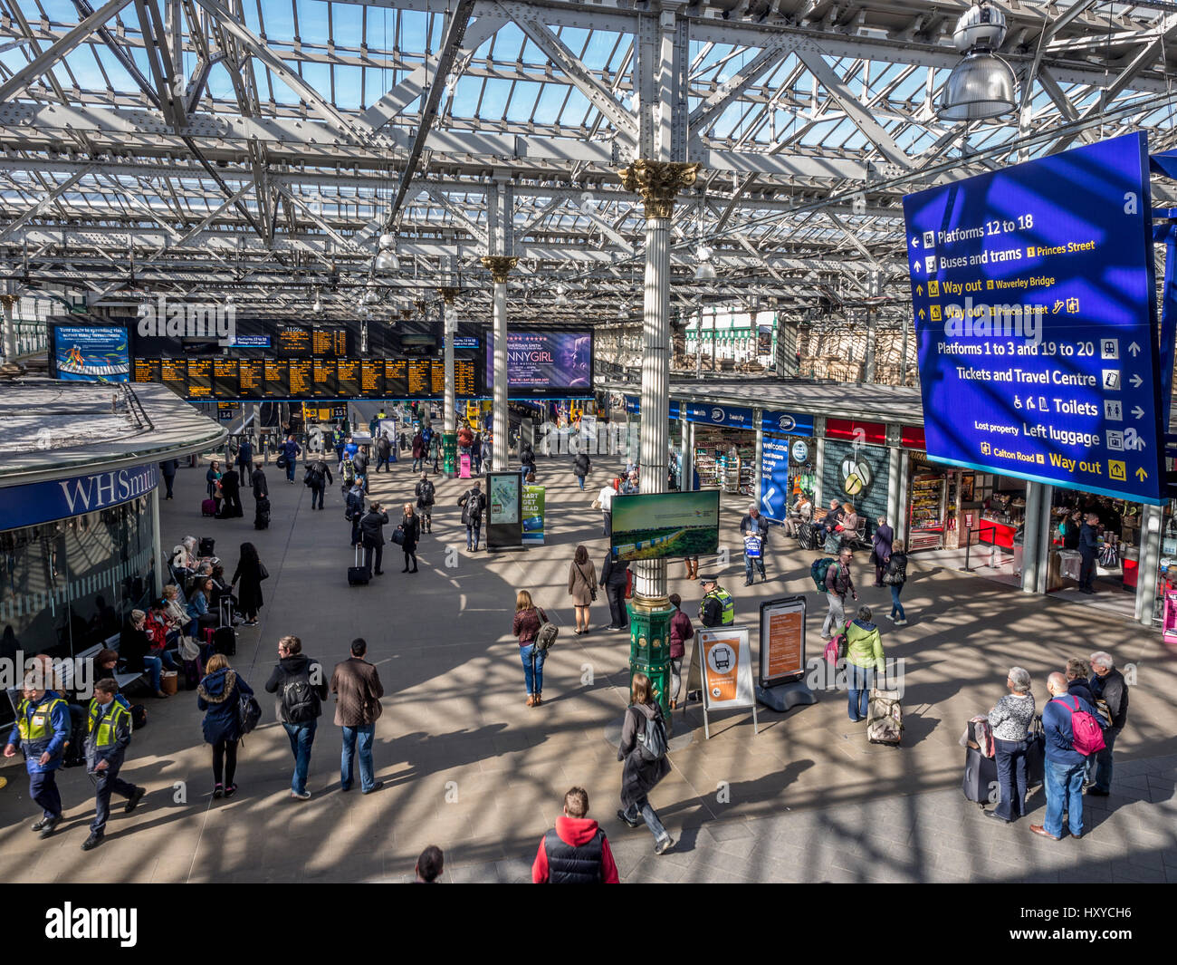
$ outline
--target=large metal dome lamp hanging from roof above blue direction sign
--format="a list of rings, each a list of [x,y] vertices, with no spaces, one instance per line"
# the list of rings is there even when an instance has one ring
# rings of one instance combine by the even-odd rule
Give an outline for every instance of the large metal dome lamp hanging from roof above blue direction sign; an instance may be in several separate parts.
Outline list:
[[[965,54],[940,88],[940,120],[986,120],[1011,113],[1018,101],[1013,68],[993,53],[1005,39],[1005,14],[980,0],[957,21],[952,41]]]

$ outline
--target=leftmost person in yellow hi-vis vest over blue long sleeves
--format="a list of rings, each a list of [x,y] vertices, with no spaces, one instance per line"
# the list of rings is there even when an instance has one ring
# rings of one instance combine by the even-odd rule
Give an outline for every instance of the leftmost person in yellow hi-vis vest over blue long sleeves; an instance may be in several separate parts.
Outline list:
[[[45,676],[33,672],[25,678],[24,700],[16,707],[16,721],[8,734],[4,755],[11,758],[20,747],[28,771],[28,795],[41,806],[41,820],[33,831],[48,838],[61,821],[61,794],[56,773],[69,740],[69,708],[56,690],[44,688]]]

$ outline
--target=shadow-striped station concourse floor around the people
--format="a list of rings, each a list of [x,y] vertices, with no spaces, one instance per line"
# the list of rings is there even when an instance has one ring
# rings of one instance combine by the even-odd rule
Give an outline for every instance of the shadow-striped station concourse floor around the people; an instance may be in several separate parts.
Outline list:
[[[0,880],[9,881],[352,881],[403,880],[427,844],[446,853],[454,881],[525,880],[540,835],[560,813],[564,792],[587,788],[592,815],[607,831],[623,880],[1173,880],[1177,878],[1177,659],[1156,633],[1115,615],[1025,596],[973,575],[913,557],[904,590],[910,624],[880,621],[887,656],[904,661],[906,729],[902,748],[866,742],[847,719],[845,696],[786,714],[712,719],[711,740],[698,710],[676,714],[672,774],[652,801],[678,839],[656,858],[644,828],[630,831],[614,812],[620,778],[616,733],[626,703],[627,636],[594,628],[576,636],[567,570],[578,543],[599,568],[605,553],[592,491],[613,468],[594,461],[580,493],[567,460],[540,460],[547,489],[546,538],[526,553],[467,554],[458,495],[466,483],[438,483],[432,535],[420,571],[403,574],[386,547],[386,575],[348,587],[348,524],[339,487],[312,513],[311,494],[270,467],[273,522],[205,520],[204,469],[184,469],[177,498],[162,503],[165,548],[181,536],[214,536],[230,570],[252,541],[271,573],[260,626],[239,632],[234,666],[258,689],[277,660],[279,636],[294,633],[324,663],[343,660],[364,636],[386,696],[377,728],[383,791],[341,794],[339,731],[331,707],[320,719],[308,784],[313,797],[288,797],[292,758],[273,705],[250,735],[238,768],[240,793],[211,798],[210,748],[202,743],[195,695],[146,699],[149,722],[135,734],[124,775],[149,788],[140,808],[115,814],[106,842],[84,853],[93,814],[80,769],[61,773],[67,820],[40,841],[28,825],[34,807],[15,762],[0,789]],[[301,474],[299,474],[301,477]],[[401,503],[412,490],[408,463],[373,476],[372,496]],[[759,602],[809,591],[809,654],[819,656],[824,606],[812,591],[814,554],[770,547],[766,583],[743,586],[737,526],[743,502],[725,504],[732,562],[724,583],[737,621],[754,620]],[[395,520],[395,515],[393,516]],[[870,587],[859,554],[862,602],[885,613],[886,590]],[[709,567],[705,563],[703,569]],[[699,589],[671,567],[671,589],[693,616]],[[511,636],[514,594],[528,588],[564,628],[545,669],[540,708],[524,706],[523,669]],[[607,622],[604,597],[593,608]],[[1068,656],[1111,650],[1131,665],[1129,726],[1117,745],[1112,797],[1091,801],[1090,838],[1051,842],[983,819],[959,792],[970,716],[1004,690],[1010,666],[1026,667],[1035,693]],[[1031,801],[1037,822],[1042,793]],[[1115,865],[1112,860],[1115,859]]]

